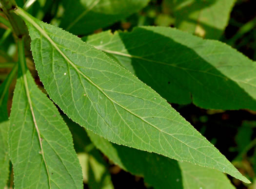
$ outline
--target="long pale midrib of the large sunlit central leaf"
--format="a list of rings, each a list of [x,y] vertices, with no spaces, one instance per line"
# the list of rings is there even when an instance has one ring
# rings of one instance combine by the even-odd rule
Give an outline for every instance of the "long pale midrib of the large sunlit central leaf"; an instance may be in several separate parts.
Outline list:
[[[51,44],[53,47],[56,48],[56,50],[63,56],[63,58],[68,62],[70,63],[70,65],[79,73],[81,74],[87,81],[89,81],[93,86],[95,86],[96,88],[98,88],[98,90],[100,92],[102,92],[102,94],[104,94],[107,99],[109,99],[112,103],[116,103],[118,106],[120,106],[121,108],[125,109],[127,112],[129,112],[130,114],[134,115],[135,117],[137,117],[138,119],[146,122],[147,124],[151,125],[152,127],[154,127],[155,129],[157,129],[159,132],[161,133],[164,133],[168,136],[171,136],[173,138],[175,138],[177,141],[179,141],[180,143],[184,144],[185,146],[191,148],[191,149],[194,149],[195,151],[197,151],[198,153],[202,154],[202,155],[205,155],[204,153],[198,151],[197,149],[189,146],[188,144],[184,143],[183,141],[181,141],[180,139],[178,139],[177,137],[174,137],[172,134],[169,134],[165,131],[162,131],[161,129],[159,129],[158,127],[156,127],[155,125],[151,124],[150,122],[148,122],[147,120],[144,120],[143,118],[139,117],[137,114],[131,112],[130,110],[128,110],[127,108],[123,107],[121,104],[117,103],[116,101],[114,101],[113,99],[111,99],[98,85],[96,85],[90,78],[88,78],[86,75],[84,75],[77,67],[76,65],[59,49],[59,47],[57,46],[57,44],[51,39],[50,36],[48,36],[46,34],[46,32],[33,20],[31,19],[29,16],[27,16],[26,14],[24,14],[20,9],[17,9],[16,12],[24,17],[27,21],[29,21]],[[208,156],[208,155],[205,155],[206,157],[209,157],[210,159],[213,159],[215,162],[217,162],[217,160],[215,160],[214,158]],[[219,164],[222,164],[220,162],[217,162]],[[226,165],[222,164],[223,166],[226,167]],[[227,167],[228,168],[228,167]]]

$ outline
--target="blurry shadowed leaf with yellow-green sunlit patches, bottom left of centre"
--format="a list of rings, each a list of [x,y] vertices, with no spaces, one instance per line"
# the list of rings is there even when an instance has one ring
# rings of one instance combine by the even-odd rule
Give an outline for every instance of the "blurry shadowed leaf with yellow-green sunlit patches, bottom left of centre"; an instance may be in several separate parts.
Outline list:
[[[78,158],[83,172],[83,181],[90,189],[114,189],[108,164],[100,152],[92,144],[84,128],[74,121],[62,116],[67,123],[78,152]]]

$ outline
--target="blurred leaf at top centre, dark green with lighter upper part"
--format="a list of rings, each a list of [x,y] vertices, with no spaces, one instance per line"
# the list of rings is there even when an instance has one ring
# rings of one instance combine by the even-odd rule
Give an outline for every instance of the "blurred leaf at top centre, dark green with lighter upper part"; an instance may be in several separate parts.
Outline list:
[[[88,34],[138,12],[149,0],[63,0],[60,27],[73,34]]]

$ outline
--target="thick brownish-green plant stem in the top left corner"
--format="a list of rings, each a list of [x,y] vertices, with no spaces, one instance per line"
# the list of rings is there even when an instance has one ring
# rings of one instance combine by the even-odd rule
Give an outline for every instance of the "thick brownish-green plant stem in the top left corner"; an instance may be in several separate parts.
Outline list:
[[[31,52],[30,52],[31,39],[28,35],[28,29],[25,22],[20,16],[18,16],[14,12],[14,10],[18,8],[15,0],[0,0],[0,4],[1,4],[1,10],[6,15],[6,17],[8,18],[12,26],[13,33],[16,36],[15,37],[16,40],[24,36],[24,41],[25,41],[24,45],[25,45],[26,55],[31,55]]]

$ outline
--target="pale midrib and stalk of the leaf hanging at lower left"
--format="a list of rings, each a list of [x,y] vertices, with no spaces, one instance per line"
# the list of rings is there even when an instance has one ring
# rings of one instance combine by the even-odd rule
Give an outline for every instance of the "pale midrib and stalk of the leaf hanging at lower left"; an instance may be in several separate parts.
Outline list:
[[[25,61],[26,60],[25,60],[25,57],[24,57],[25,52],[24,52],[24,47],[23,47],[23,39],[18,40],[18,52],[19,52],[19,62],[20,62],[20,67],[21,67],[21,71],[22,71],[22,77],[23,77],[24,86],[25,86],[25,90],[26,90],[26,96],[27,96],[29,107],[30,107],[30,110],[31,110],[31,115],[32,115],[32,118],[33,118],[33,122],[34,122],[34,125],[35,125],[36,130],[37,130],[40,149],[41,149],[40,153],[42,155],[42,158],[43,158],[43,161],[44,161],[44,164],[45,164],[47,177],[48,177],[48,183],[49,183],[49,187],[51,189],[51,177],[50,177],[50,173],[49,173],[48,166],[47,166],[47,163],[46,163],[46,159],[45,159],[45,156],[44,156],[42,141],[41,141],[41,137],[40,137],[40,131],[39,131],[39,127],[38,127],[37,120],[36,120],[36,117],[35,117],[35,113],[34,113],[34,110],[33,110],[33,105],[32,105],[30,92],[29,92],[29,87],[28,87],[28,82],[27,82],[26,69],[25,69],[25,64],[26,64]]]

